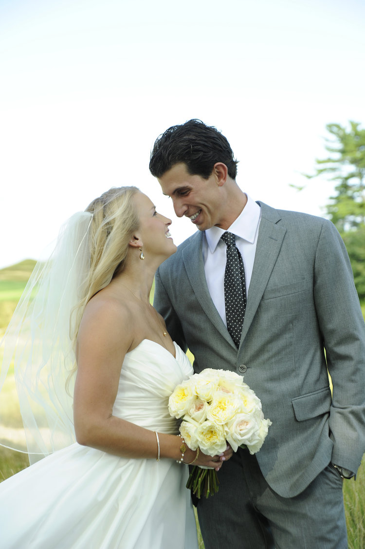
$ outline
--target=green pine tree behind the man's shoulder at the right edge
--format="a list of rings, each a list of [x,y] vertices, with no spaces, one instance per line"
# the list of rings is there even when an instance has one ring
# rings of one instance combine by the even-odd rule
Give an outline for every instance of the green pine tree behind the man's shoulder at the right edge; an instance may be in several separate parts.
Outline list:
[[[326,175],[336,182],[326,211],[344,239],[357,292],[365,299],[365,129],[359,122],[349,124],[349,130],[340,124],[326,126],[331,137],[325,138],[325,149],[331,154],[316,159],[316,173],[306,177]]]

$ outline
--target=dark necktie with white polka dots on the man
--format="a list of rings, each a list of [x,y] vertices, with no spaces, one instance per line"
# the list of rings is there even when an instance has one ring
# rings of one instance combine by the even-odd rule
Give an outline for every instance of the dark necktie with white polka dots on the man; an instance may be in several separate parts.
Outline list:
[[[237,348],[241,339],[246,310],[246,282],[242,255],[235,245],[235,236],[226,231],[221,239],[227,245],[227,263],[224,271],[224,302],[227,328]]]

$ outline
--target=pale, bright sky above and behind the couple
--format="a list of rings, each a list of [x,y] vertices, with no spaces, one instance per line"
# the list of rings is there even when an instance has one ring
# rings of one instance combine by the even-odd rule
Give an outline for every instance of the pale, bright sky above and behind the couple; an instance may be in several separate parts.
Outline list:
[[[302,173],[327,124],[365,123],[364,27],[363,0],[0,0],[0,268],[114,186],[181,243],[195,227],[148,164],[191,118],[228,138],[252,198],[324,215],[333,183]]]

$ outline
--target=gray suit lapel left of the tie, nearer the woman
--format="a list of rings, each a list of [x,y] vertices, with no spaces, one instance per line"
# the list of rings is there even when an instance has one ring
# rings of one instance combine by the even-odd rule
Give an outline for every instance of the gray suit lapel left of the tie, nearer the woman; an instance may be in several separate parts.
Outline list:
[[[220,331],[224,339],[237,349],[212,301],[206,283],[203,261],[203,232],[199,231],[195,234],[195,238],[192,238],[190,244],[184,248],[182,255],[189,282],[196,299],[199,301],[201,307],[203,307],[205,315]]]

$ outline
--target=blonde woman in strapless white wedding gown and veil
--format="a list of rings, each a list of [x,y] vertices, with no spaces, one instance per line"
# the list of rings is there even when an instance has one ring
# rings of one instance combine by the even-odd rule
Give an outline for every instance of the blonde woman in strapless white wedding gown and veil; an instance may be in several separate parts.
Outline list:
[[[48,457],[0,483],[2,549],[198,546],[184,464],[219,470],[232,451],[190,450],[167,409],[193,373],[149,303],[156,268],[176,251],[170,224],[136,187],[112,188],[33,272],[0,382],[17,339],[27,449],[31,462]]]

